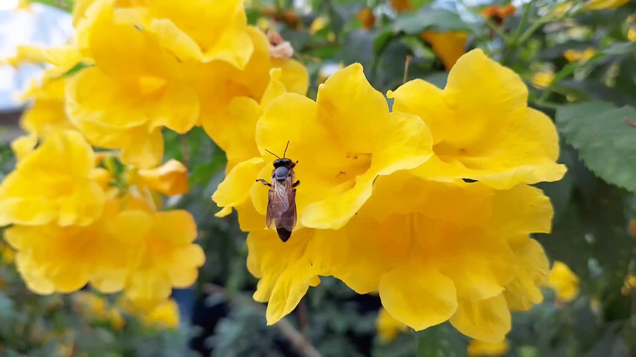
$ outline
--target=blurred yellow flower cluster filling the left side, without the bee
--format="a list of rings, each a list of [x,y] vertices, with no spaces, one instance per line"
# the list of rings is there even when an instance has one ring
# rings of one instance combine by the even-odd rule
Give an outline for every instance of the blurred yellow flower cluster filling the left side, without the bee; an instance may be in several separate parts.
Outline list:
[[[162,164],[162,130],[202,126],[228,153],[251,152],[231,140],[254,125],[240,113],[261,99],[273,68],[298,93],[307,71],[270,57],[242,0],[75,1],[73,24],[72,43],[20,46],[7,61],[52,66],[23,95],[27,135],[12,143],[18,162],[0,185],[0,226],[10,226],[5,238],[34,292],[90,283],[161,315],[205,261],[192,215],[161,210],[162,194],[188,191],[186,167]]]

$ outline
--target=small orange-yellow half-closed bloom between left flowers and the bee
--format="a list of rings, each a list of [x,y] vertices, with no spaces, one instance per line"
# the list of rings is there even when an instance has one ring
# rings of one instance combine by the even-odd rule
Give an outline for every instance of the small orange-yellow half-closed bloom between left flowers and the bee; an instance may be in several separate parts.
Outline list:
[[[135,182],[167,196],[188,192],[188,169],[175,159],[162,166],[137,171]]]

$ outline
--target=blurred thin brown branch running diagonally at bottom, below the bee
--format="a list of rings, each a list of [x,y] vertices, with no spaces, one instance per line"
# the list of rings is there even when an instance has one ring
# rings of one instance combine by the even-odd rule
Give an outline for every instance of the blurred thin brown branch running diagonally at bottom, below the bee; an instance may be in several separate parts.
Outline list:
[[[255,302],[252,299],[249,299],[248,297],[245,297],[240,293],[230,294],[223,286],[207,283],[203,286],[203,291],[209,294],[222,293],[228,300],[232,300],[233,302],[236,302],[237,304],[240,304],[242,306],[249,306],[265,316],[265,307],[263,305]],[[301,356],[322,357],[322,354],[318,352],[318,350],[315,349],[314,346],[312,346],[311,342],[305,339],[305,336],[303,336],[302,333],[298,332],[294,325],[289,323],[286,318],[280,319],[280,321],[278,321],[275,326],[279,328],[280,333],[282,333],[282,335],[287,340],[289,340],[289,343],[291,343],[291,345],[296,348],[296,351],[298,351]]]

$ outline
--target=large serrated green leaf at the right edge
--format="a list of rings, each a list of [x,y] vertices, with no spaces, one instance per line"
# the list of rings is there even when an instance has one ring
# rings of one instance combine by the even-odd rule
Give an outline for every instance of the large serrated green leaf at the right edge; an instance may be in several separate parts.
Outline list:
[[[595,175],[636,192],[636,109],[606,102],[562,105],[556,126]]]

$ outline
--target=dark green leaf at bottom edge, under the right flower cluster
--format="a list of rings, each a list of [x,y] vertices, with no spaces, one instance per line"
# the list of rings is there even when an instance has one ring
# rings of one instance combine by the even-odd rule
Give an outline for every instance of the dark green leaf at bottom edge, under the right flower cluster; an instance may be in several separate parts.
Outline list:
[[[464,357],[468,338],[446,322],[415,335],[417,357]]]

